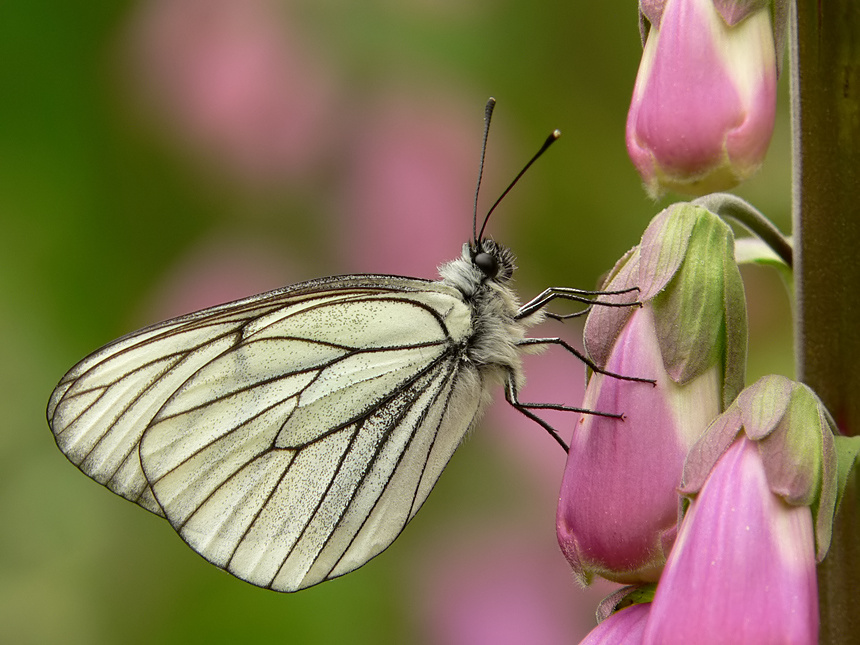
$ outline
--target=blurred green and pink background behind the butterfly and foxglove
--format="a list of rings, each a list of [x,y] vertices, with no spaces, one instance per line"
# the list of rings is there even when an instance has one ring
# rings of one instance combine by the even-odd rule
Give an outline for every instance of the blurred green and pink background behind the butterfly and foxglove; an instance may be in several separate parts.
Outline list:
[[[293,595],[204,562],[81,475],[44,409],[78,359],[145,324],[320,275],[432,277],[485,210],[523,299],[592,287],[655,204],[624,148],[633,0],[5,0],[0,3],[0,641],[571,643],[611,587],[555,543],[564,455],[497,403],[383,556]],[[737,192],[784,229],[785,79],[762,172]],[[746,271],[750,380],[792,373],[779,281]],[[547,323],[541,335],[576,339]],[[523,400],[576,404],[548,352]],[[553,417],[569,431],[574,418]]]

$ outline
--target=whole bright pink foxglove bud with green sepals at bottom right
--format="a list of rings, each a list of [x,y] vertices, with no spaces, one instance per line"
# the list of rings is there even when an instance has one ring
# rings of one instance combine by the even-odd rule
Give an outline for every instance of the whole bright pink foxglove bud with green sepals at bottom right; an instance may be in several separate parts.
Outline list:
[[[690,451],[692,502],[643,642],[817,642],[815,564],[856,452],[806,386],[769,376],[744,390]]]

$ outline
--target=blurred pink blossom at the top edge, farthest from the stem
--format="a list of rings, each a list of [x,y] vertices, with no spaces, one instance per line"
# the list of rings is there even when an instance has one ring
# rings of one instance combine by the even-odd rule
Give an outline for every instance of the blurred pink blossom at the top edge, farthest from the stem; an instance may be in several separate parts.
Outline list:
[[[252,185],[301,179],[332,138],[334,79],[271,0],[144,0],[132,78],[207,163]]]

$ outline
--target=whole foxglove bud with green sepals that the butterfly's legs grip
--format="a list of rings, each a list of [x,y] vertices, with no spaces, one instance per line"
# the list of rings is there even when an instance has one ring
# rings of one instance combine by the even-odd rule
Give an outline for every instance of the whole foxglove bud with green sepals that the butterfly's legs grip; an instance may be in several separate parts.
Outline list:
[[[594,374],[559,496],[557,534],[574,573],[654,581],[676,533],[677,487],[689,448],[743,383],[746,309],[728,226],[676,204],[616,265],[605,288],[638,286],[635,307],[599,307],[585,344]],[[635,293],[635,292],[634,292]]]

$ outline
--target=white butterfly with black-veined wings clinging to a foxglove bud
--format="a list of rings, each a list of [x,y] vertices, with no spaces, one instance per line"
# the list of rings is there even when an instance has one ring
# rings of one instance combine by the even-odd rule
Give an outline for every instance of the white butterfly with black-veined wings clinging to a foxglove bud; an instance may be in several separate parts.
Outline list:
[[[578,410],[519,401],[523,352],[579,355],[525,333],[552,300],[601,292],[520,306],[514,256],[483,227],[439,272],[311,280],[128,334],[57,385],[57,445],[238,578],[296,591],[348,573],[415,516],[494,385],[562,445],[533,410]]]

